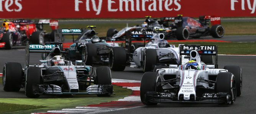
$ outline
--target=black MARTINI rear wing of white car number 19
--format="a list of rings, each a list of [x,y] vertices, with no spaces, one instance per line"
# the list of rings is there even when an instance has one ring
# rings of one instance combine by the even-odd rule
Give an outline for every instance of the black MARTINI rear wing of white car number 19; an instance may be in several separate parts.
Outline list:
[[[180,64],[182,55],[190,55],[190,51],[195,50],[199,55],[215,56],[215,68],[218,68],[218,46],[217,45],[180,45]]]

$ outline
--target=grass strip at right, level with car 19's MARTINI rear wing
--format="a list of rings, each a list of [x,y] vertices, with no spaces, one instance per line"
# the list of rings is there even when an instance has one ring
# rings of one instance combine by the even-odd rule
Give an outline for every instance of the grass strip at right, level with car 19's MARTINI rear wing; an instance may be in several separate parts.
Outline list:
[[[197,44],[197,45],[218,45],[218,54],[235,54],[235,55],[256,55],[256,43],[213,43],[213,42],[179,42],[175,44]]]

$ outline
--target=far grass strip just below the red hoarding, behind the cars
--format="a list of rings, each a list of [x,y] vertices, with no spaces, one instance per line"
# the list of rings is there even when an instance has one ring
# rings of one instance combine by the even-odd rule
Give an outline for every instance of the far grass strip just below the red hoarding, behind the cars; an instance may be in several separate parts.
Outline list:
[[[59,24],[59,28],[86,28],[88,24]],[[121,30],[126,27],[126,23],[108,23],[108,24],[97,24],[97,21],[90,25],[96,25],[96,32],[98,36],[105,37],[109,28],[117,28]],[[129,26],[141,25],[141,23],[129,23]],[[256,22],[222,22],[225,28],[225,35],[256,35]],[[50,32],[49,26],[45,25],[44,30]],[[71,38],[71,36],[66,36]]]

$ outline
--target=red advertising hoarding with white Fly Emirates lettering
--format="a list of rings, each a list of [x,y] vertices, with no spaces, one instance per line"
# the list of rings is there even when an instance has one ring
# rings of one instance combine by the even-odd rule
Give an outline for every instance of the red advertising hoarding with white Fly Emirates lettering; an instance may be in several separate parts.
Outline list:
[[[256,0],[0,0],[0,18],[256,17]]]

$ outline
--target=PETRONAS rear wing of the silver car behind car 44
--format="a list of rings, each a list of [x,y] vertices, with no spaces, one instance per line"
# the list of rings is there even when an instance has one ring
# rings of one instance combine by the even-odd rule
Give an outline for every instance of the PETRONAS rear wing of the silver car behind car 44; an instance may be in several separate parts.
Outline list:
[[[62,42],[62,36],[63,35],[72,35],[73,36],[73,42],[74,42],[74,35],[81,35],[84,29],[79,29],[79,28],[72,28],[72,29],[58,29],[55,32],[54,35],[54,41],[55,42]]]

